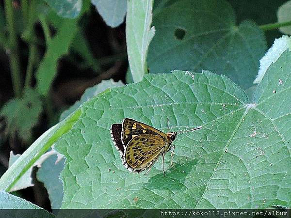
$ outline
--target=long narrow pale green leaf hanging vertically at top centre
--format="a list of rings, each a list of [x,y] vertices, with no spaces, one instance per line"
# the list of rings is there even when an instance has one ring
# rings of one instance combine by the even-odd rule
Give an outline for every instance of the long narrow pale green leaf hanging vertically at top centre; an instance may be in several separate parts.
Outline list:
[[[147,73],[147,49],[155,34],[151,28],[152,5],[153,0],[128,0],[126,42],[134,82],[141,81]]]

